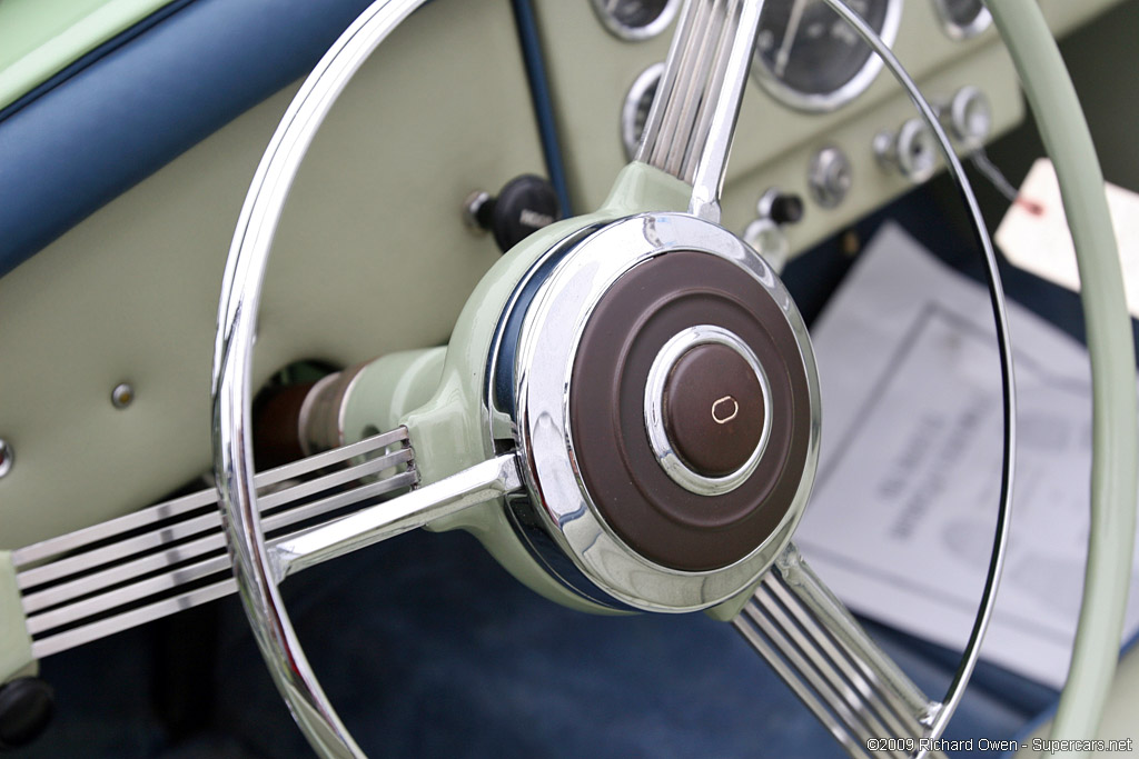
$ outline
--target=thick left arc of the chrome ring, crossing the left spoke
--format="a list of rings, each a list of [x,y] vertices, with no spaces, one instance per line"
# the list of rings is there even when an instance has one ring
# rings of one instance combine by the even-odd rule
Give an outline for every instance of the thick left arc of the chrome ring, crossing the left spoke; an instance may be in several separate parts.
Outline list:
[[[238,594],[278,690],[313,749],[364,757],[325,695],[277,585],[253,485],[251,382],[261,286],[289,188],[321,122],[368,56],[427,0],[377,0],[336,40],[289,104],[256,174],[230,246],[214,344],[214,472]]]

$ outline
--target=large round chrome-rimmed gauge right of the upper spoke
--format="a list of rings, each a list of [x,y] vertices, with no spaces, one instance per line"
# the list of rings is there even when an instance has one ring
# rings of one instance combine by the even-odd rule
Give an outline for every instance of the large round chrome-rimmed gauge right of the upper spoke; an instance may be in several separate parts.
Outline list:
[[[901,0],[846,0],[893,44]],[[771,94],[803,110],[833,110],[877,76],[882,60],[823,0],[768,0],[755,42],[755,77]]]

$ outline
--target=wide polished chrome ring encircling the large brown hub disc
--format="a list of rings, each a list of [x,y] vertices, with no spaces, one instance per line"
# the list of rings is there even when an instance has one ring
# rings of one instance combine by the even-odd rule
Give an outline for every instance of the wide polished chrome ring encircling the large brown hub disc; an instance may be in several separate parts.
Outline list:
[[[498,412],[509,419],[508,427],[522,454],[530,496],[524,504],[526,527],[542,533],[540,541],[523,535],[523,542],[549,568],[568,558],[581,575],[617,602],[616,608],[686,612],[714,607],[746,589],[767,571],[790,541],[810,497],[818,468],[821,418],[818,371],[806,325],[775,272],[752,248],[731,232],[696,216],[628,216],[572,245],[573,249],[552,265],[528,299],[513,361],[495,362],[494,377],[487,383],[514,389],[509,403],[499,405]],[[787,513],[749,554],[705,571],[658,564],[617,536],[581,478],[570,421],[568,391],[579,343],[598,303],[633,267],[681,250],[729,261],[739,266],[740,275],[753,278],[764,288],[795,336],[811,407],[803,477]],[[493,435],[492,429],[487,431]],[[519,529],[517,520],[515,528]]]

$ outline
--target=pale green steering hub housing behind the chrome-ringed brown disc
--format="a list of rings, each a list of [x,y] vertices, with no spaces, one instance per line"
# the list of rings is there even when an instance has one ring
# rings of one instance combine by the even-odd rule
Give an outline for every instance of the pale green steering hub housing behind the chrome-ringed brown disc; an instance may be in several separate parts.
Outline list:
[[[648,211],[687,211],[690,196],[691,187],[687,183],[647,164],[629,164],[617,175],[599,211],[535,232],[486,273],[459,315],[441,376],[440,348],[404,354],[407,357],[379,358],[364,369],[345,407],[345,442],[360,439],[376,429],[405,424],[425,485],[494,456],[483,397],[487,360],[503,311],[527,271],[559,241],[588,226]],[[420,389],[399,389],[415,386]],[[435,393],[419,407],[400,409],[401,404],[393,401],[402,397],[403,402],[411,402],[425,387],[435,387]],[[432,523],[428,529],[467,530],[511,575],[551,601],[593,613],[622,613],[592,603],[554,579],[515,535],[500,502],[467,509]],[[748,594],[749,589],[708,613],[729,619]]]

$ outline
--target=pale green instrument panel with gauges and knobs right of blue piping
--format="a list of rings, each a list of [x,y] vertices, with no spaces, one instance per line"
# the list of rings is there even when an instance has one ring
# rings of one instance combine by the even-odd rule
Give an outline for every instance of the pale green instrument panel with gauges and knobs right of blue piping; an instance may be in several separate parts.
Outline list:
[[[1042,0],[1041,6],[1052,30],[1063,34],[1116,2]],[[796,5],[800,19],[793,30]],[[1011,61],[983,6],[972,0],[854,5],[894,40],[895,56],[935,106],[949,113],[949,104],[962,89],[980,92],[990,109],[986,118],[977,119],[988,125],[982,142],[1022,121],[1024,107]],[[609,178],[634,154],[637,124],[644,122],[675,27],[673,23],[656,36],[621,41],[599,23],[591,6],[535,0],[558,127],[572,145],[566,175],[575,209],[599,205]],[[792,251],[837,233],[911,189],[916,180],[900,171],[888,154],[898,155],[899,142],[916,151],[928,145],[909,130],[902,134],[906,122],[916,116],[912,105],[875,57],[863,57],[861,42],[852,44],[846,32],[828,23],[826,14],[831,11],[825,6],[822,0],[767,3],[768,34],[761,32],[757,40],[722,203],[724,225],[743,233],[772,189],[802,198],[802,220],[785,229]],[[773,67],[780,49],[787,50],[787,64],[780,68],[789,85],[777,88]],[[812,72],[813,61],[830,51],[837,51],[835,60],[828,59],[821,74]],[[764,58],[767,67],[761,64]],[[796,88],[802,92],[788,94]],[[817,107],[804,105],[812,98]],[[884,152],[876,150],[876,140],[886,146]],[[958,147],[964,151],[976,142],[967,135]],[[917,181],[927,173],[932,172],[918,171]],[[828,184],[819,185],[819,178]],[[836,189],[842,191],[836,195]],[[817,201],[820,197],[823,203]]]

